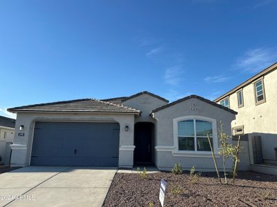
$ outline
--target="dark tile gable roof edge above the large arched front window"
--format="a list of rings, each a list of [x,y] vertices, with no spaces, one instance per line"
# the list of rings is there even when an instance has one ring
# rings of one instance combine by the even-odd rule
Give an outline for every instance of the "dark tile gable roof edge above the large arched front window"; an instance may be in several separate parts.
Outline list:
[[[230,108],[226,108],[225,106],[221,106],[221,105],[218,104],[218,103],[215,103],[215,102],[210,101],[210,100],[208,100],[208,99],[204,99],[203,97],[199,97],[199,96],[197,96],[197,95],[189,95],[188,97],[184,97],[184,98],[182,98],[182,99],[178,99],[177,101],[173,101],[173,102],[171,102],[171,103],[168,103],[168,104],[166,104],[166,105],[164,105],[164,106],[161,106],[161,107],[159,107],[159,108],[156,108],[156,109],[152,110],[152,111],[150,112],[150,114],[152,114],[152,113],[154,113],[154,112],[157,112],[157,111],[159,111],[159,110],[163,110],[164,108],[168,108],[168,107],[170,107],[170,106],[173,106],[173,105],[175,105],[175,104],[177,104],[177,103],[181,103],[181,102],[186,101],[186,100],[188,100],[188,99],[192,99],[192,98],[199,99],[199,100],[201,100],[201,101],[204,101],[204,102],[206,102],[206,103],[209,103],[209,104],[211,104],[211,105],[213,105],[213,106],[216,106],[216,107],[218,107],[218,108],[221,108],[221,109],[223,109],[223,110],[226,110],[226,111],[228,111],[228,112],[231,112],[231,113],[233,113],[234,115],[237,115],[237,114],[238,114],[238,112],[235,112],[234,110],[231,110]]]

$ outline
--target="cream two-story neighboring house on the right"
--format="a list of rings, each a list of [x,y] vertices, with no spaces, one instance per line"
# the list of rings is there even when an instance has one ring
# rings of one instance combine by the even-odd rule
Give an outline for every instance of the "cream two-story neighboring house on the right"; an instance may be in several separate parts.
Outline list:
[[[233,135],[249,139],[251,164],[277,164],[277,63],[215,99],[238,112]]]

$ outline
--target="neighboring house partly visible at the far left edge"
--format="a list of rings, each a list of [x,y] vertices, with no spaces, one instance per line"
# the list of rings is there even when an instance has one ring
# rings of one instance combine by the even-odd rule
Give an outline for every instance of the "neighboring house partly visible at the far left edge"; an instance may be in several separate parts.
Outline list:
[[[10,145],[15,136],[15,119],[0,116],[0,164],[10,164]]]

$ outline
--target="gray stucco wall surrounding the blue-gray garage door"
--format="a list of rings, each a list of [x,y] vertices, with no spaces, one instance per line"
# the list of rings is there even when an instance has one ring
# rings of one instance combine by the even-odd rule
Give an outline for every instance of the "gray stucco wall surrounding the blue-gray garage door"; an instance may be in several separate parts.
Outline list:
[[[11,166],[29,166],[33,144],[35,121],[95,121],[118,122],[120,124],[118,166],[132,168],[134,155],[134,115],[132,114],[84,114],[84,113],[35,113],[18,112],[15,126],[15,139],[12,144]],[[19,126],[24,125],[20,131]],[[125,131],[125,126],[129,130]],[[19,136],[24,132],[24,136]]]

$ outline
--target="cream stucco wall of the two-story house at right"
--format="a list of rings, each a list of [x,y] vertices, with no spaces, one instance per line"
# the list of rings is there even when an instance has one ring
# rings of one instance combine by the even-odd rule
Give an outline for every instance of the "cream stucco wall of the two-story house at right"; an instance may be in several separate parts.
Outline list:
[[[230,108],[238,112],[231,126],[233,128],[244,126],[244,134],[249,134],[249,139],[254,135],[260,135],[262,137],[263,159],[271,161],[276,160],[274,148],[277,148],[277,70],[265,75],[263,81],[265,103],[255,104],[253,84],[242,89],[244,106],[241,108],[238,108],[237,93],[234,92],[229,96]]]

